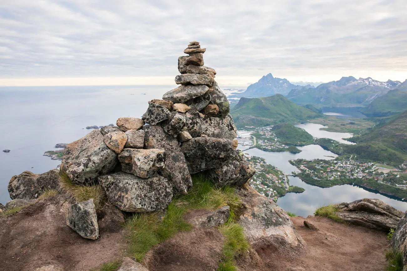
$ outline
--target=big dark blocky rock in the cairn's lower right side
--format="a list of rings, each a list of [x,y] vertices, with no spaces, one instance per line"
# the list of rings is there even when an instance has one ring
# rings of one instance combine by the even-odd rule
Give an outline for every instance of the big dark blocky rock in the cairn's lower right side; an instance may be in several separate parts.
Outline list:
[[[221,167],[232,158],[237,158],[230,139],[195,137],[182,143],[181,150],[191,174]]]

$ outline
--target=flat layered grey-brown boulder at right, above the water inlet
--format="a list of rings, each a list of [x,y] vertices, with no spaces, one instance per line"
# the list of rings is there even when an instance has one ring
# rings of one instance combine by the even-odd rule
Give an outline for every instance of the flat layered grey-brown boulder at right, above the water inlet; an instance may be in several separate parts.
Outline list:
[[[337,204],[340,209],[335,212],[342,220],[354,225],[389,232],[397,228],[403,212],[385,204],[380,199],[358,199],[354,202]]]

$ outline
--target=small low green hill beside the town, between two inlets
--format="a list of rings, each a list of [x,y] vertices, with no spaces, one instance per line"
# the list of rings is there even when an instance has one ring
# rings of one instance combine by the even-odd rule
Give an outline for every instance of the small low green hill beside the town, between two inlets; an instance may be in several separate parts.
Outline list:
[[[295,127],[289,123],[274,125],[271,130],[282,142],[291,143],[295,146],[309,145],[314,143],[314,139],[311,134],[306,132],[304,129]]]

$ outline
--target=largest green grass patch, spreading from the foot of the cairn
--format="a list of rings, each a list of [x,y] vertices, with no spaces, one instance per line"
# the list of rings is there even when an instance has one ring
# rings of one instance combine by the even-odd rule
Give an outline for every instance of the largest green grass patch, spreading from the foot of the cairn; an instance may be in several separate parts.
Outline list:
[[[177,232],[193,228],[183,218],[189,210],[214,210],[228,205],[231,213],[229,221],[233,221],[239,204],[239,197],[233,188],[218,188],[204,176],[193,176],[193,188],[187,195],[173,199],[164,211],[164,216],[160,212],[136,213],[127,219],[125,226],[130,232],[128,251],[131,257],[140,262],[153,246],[168,240]]]

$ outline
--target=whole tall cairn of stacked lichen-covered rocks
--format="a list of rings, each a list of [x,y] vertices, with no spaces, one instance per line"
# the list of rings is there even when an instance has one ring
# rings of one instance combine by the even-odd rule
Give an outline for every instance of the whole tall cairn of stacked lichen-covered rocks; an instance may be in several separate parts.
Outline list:
[[[229,102],[215,70],[204,66],[205,51],[190,42],[178,58],[179,87],[149,101],[142,119],[119,118],[68,144],[61,170],[74,183],[101,184],[109,202],[127,212],[163,210],[188,192],[194,173],[218,186],[245,184],[256,170],[236,150]]]

